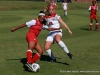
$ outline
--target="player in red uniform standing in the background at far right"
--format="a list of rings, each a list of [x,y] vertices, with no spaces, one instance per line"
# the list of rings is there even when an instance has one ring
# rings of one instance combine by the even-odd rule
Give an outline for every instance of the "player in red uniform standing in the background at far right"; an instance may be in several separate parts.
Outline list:
[[[89,7],[90,12],[90,30],[92,31],[92,23],[93,19],[96,21],[96,27],[95,30],[98,31],[98,16],[97,16],[98,6],[96,5],[96,1],[92,1],[92,5]]]

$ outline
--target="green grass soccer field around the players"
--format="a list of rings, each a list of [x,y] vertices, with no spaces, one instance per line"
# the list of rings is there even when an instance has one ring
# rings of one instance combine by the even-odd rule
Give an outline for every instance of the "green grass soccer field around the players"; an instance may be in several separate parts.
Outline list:
[[[10,30],[36,18],[41,7],[34,6],[34,2],[8,1],[0,2],[0,4],[0,75],[100,75],[100,32],[94,31],[95,22],[93,31],[89,31],[88,7],[90,4],[69,3],[68,16],[64,17],[61,3],[58,3],[59,7],[56,12],[73,32],[73,35],[70,36],[68,31],[63,28],[62,40],[74,57],[72,60],[69,59],[67,54],[55,43],[51,49],[58,62],[48,63],[47,54],[44,51],[41,59],[37,61],[41,67],[38,73],[29,72],[25,70],[24,66],[27,51],[25,36],[28,27],[14,33]],[[45,7],[42,5],[44,3],[39,4],[42,9]],[[23,6],[25,6],[24,9]],[[100,18],[99,13],[100,11],[98,11]],[[38,37],[42,47],[47,34],[48,31],[43,30]]]

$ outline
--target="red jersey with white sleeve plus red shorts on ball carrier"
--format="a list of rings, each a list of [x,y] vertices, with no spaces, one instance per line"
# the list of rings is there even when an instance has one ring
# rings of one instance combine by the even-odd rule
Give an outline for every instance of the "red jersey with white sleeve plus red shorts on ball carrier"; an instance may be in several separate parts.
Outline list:
[[[42,30],[43,24],[39,22],[38,19],[31,20],[26,23],[28,27],[30,27],[29,32],[26,35],[27,42],[37,42],[37,36],[39,35],[40,31]]]

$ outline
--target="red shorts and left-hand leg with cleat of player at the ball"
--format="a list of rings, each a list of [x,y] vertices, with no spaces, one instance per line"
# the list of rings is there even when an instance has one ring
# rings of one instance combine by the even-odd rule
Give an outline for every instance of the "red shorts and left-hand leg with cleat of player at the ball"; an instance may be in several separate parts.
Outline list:
[[[33,71],[32,69],[32,51],[35,48],[35,46],[37,45],[37,39],[34,33],[29,32],[26,35],[26,40],[28,42],[28,50],[26,52],[26,56],[27,56],[27,63],[25,64],[31,71]]]

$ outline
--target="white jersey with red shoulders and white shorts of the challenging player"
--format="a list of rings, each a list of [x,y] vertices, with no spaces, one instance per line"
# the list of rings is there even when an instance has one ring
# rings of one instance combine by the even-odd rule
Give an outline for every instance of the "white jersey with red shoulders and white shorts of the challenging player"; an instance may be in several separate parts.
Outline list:
[[[55,13],[50,15],[50,16],[46,15],[45,20],[47,21],[48,27],[50,27],[50,28],[59,28],[60,27],[60,23],[58,21],[59,18],[60,18],[60,16],[58,14],[55,14]],[[62,29],[50,31],[48,36],[47,36],[46,41],[54,42],[55,36],[57,34],[59,34],[62,37]]]

